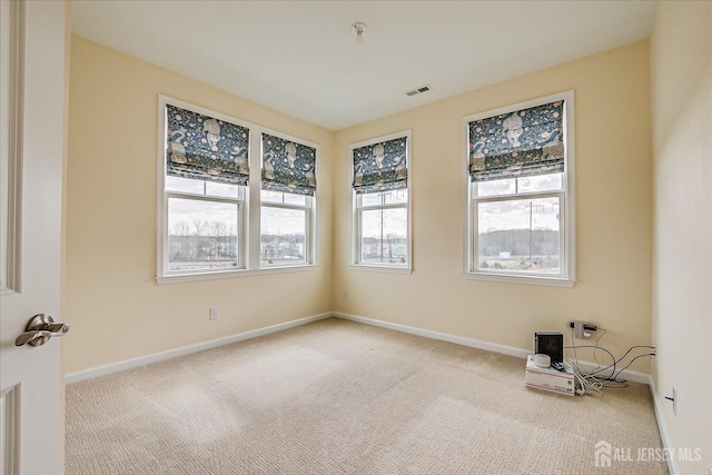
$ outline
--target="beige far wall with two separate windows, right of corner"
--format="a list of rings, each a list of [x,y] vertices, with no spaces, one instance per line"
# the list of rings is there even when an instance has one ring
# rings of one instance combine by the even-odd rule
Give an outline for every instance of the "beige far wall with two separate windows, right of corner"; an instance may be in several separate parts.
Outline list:
[[[619,356],[649,345],[647,47],[633,43],[337,132],[335,310],[517,348],[532,348],[535,330],[567,331],[570,320],[583,319],[607,329],[602,344]],[[575,91],[577,284],[464,279],[462,118],[568,89]],[[404,129],[413,129],[414,273],[349,270],[348,145]],[[650,362],[632,368],[647,373]]]

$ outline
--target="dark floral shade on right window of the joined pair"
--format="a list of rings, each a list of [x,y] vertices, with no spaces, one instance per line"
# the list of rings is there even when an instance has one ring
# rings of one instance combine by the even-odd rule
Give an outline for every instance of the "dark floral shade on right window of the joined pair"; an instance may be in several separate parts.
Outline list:
[[[314,196],[316,149],[263,133],[263,189]]]

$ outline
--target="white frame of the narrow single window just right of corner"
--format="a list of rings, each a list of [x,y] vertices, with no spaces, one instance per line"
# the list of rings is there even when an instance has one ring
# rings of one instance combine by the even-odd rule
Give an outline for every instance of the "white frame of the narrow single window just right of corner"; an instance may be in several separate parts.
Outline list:
[[[413,202],[413,187],[412,187],[412,130],[402,130],[399,132],[389,133],[382,137],[376,137],[374,139],[364,140],[356,144],[350,144],[348,147],[348,156],[349,156],[349,186],[350,186],[350,210],[352,216],[349,219],[349,264],[348,267],[353,270],[374,270],[374,271],[384,271],[384,273],[395,273],[395,274],[412,274],[413,273],[413,211],[412,211],[412,202]],[[357,195],[356,190],[354,190],[354,149],[366,147],[369,145],[384,142],[388,140],[394,140],[398,138],[406,138],[406,190],[407,200],[405,204],[380,204],[380,205],[366,205],[362,204],[363,195]],[[393,190],[394,192],[398,190]],[[380,191],[387,192],[387,191]],[[370,194],[369,194],[370,195]],[[360,253],[362,253],[362,212],[364,210],[383,210],[383,209],[400,209],[405,208],[406,210],[406,253],[407,259],[404,264],[376,264],[376,263],[363,263]]]

